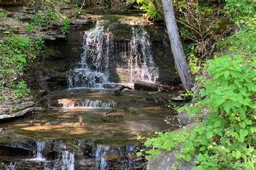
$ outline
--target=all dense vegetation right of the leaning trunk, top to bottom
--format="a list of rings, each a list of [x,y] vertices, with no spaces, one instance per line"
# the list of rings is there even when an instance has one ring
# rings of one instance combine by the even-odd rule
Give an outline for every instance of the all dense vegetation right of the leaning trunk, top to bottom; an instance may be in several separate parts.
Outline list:
[[[196,124],[193,128],[184,127],[181,131],[156,132],[157,137],[147,138],[145,146],[152,147],[143,150],[147,160],[159,155],[161,150],[180,148],[181,152],[176,153],[178,159],[189,162],[197,155],[194,161],[196,167],[193,169],[254,169],[256,20],[253,5],[255,3],[252,1],[226,1],[224,10],[231,22],[236,21],[238,31],[229,37],[215,39],[215,55],[207,51],[199,54],[194,52],[194,46],[200,42],[198,39],[185,46],[185,49],[188,48],[186,51],[191,71],[197,75],[198,93],[193,95],[190,104],[178,111],[185,110],[196,120]],[[196,12],[204,17],[213,11],[197,7]],[[207,20],[201,23],[202,26],[205,23]],[[188,24],[184,25],[185,29],[194,30]],[[192,47],[191,51],[189,47]],[[202,58],[204,54],[206,58]],[[170,166],[177,168],[179,165],[177,161]]]

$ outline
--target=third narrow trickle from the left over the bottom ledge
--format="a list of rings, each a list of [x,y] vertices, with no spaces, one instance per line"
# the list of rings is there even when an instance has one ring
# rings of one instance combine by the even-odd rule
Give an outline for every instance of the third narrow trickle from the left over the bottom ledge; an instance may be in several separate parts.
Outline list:
[[[109,146],[102,146],[102,145],[97,145],[97,150],[96,150],[96,170],[105,170],[107,169],[107,162],[104,158],[105,154],[107,151],[109,151]]]

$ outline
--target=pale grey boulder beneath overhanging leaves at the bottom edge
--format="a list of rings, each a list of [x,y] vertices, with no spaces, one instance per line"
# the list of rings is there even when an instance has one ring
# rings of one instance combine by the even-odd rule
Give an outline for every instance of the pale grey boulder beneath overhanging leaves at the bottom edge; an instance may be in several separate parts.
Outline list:
[[[162,152],[160,155],[154,157],[151,161],[149,161],[149,164],[147,164],[146,170],[156,170],[156,169],[165,169],[165,170],[171,170],[173,168],[172,165],[174,162],[180,162],[179,165],[176,165],[176,169],[183,169],[188,170],[192,169],[192,167],[195,165],[194,161],[196,160],[196,157],[193,157],[190,162],[186,162],[184,160],[180,160],[175,158],[175,154],[180,152],[179,150],[172,150],[170,152]]]

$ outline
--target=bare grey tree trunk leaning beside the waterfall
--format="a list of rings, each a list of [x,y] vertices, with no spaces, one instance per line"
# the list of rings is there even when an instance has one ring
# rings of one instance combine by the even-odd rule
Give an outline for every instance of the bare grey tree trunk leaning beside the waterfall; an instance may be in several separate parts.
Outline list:
[[[187,65],[186,56],[179,37],[179,31],[175,20],[175,14],[171,0],[162,0],[164,9],[165,23],[169,38],[171,41],[172,54],[175,60],[175,66],[179,73],[181,82],[185,89],[191,89],[194,84],[194,76]]]

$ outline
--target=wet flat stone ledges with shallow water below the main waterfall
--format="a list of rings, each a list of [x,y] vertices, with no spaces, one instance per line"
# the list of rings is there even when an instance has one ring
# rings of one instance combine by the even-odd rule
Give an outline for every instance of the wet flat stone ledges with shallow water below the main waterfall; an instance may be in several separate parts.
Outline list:
[[[152,97],[167,94],[126,90],[115,96],[113,91],[80,89],[46,95],[41,101],[45,111],[0,124],[0,129],[5,128],[0,132],[2,167],[138,167],[143,160],[136,161],[136,151],[142,147],[137,136],[171,128],[164,118],[174,112],[164,107],[164,101],[156,103],[157,98]],[[88,100],[91,104],[84,105]],[[101,105],[95,107],[97,101]]]

